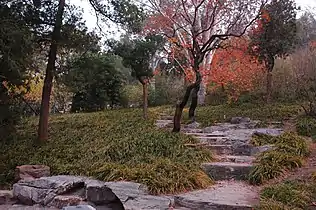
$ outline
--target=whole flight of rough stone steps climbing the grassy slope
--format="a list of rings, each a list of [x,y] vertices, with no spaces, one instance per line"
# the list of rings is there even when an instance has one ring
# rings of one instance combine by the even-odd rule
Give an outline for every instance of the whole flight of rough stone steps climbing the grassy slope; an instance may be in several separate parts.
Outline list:
[[[172,128],[172,116],[162,116],[159,128]],[[233,120],[232,120],[233,121]],[[234,119],[236,121],[236,119]],[[238,121],[238,119],[237,119]],[[207,128],[182,125],[181,132],[199,140],[196,145],[211,150],[215,161],[201,168],[216,184],[209,189],[176,195],[176,207],[188,209],[253,209],[259,203],[258,187],[248,184],[254,166],[254,155],[271,147],[253,147],[249,140],[254,133],[280,135],[281,129],[255,128],[257,121],[241,118],[237,123],[220,123]]]

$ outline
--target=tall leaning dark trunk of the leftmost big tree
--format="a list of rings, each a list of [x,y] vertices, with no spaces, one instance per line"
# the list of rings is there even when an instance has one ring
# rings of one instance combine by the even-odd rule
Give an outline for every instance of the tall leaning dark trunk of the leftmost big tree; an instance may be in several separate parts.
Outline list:
[[[48,55],[48,62],[46,67],[46,74],[42,92],[41,111],[38,127],[38,140],[46,141],[48,139],[48,115],[49,115],[49,102],[52,92],[55,62],[57,56],[57,46],[60,39],[60,31],[62,26],[62,19],[65,9],[65,0],[59,0],[58,11],[56,14],[56,22],[52,33],[52,41]]]

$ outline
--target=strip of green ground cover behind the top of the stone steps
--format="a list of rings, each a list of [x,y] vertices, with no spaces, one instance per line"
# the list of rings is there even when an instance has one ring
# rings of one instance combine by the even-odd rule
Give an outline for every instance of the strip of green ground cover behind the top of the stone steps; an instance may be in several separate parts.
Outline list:
[[[204,106],[196,110],[197,121],[203,126],[209,126],[216,122],[224,122],[232,117],[244,116],[254,120],[283,120],[295,116],[300,107],[295,104],[240,104]]]

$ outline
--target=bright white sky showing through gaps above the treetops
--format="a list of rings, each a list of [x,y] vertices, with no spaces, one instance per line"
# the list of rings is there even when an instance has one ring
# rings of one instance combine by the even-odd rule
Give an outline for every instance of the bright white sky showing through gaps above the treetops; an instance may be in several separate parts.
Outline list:
[[[316,0],[295,0],[297,6],[301,6],[302,9],[313,9],[316,10]],[[88,0],[68,0],[72,4],[80,6],[84,10],[83,17],[86,21],[86,24],[89,30],[97,29],[97,19],[94,14],[92,7],[89,4]],[[119,33],[117,33],[118,28],[114,24],[110,24],[110,26],[102,24],[102,30],[107,32],[108,38],[119,38]],[[111,33],[112,32],[112,33]]]

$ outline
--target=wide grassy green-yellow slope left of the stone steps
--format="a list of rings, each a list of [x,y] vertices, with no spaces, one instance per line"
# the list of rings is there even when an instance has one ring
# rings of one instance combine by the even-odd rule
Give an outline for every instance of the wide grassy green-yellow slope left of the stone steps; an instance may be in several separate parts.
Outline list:
[[[0,181],[11,182],[21,164],[46,164],[53,174],[93,176],[105,181],[147,184],[152,193],[176,193],[211,184],[200,164],[211,159],[207,150],[185,147],[195,139],[153,126],[161,108],[52,116],[50,139],[34,147],[35,118],[19,127],[19,136],[0,143]]]

